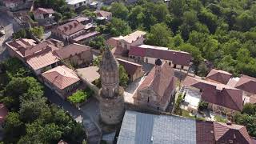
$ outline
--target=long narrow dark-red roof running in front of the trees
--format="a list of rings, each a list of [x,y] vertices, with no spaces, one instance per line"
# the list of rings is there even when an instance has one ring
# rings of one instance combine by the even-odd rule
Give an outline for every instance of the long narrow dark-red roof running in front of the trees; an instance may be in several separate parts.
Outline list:
[[[129,55],[138,57],[160,58],[164,60],[170,60],[174,64],[182,66],[190,66],[192,56],[189,53],[176,51],[176,50],[164,50],[159,46],[131,46]]]

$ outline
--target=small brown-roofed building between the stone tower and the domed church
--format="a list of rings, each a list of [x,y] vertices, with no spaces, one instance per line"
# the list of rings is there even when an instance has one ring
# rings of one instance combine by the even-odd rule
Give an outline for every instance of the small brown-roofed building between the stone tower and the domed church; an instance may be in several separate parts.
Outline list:
[[[122,65],[126,73],[128,74],[128,77],[131,82],[134,82],[134,80],[141,78],[144,74],[142,65],[135,63],[135,62],[130,62],[126,61],[124,59],[117,58],[118,63]]]

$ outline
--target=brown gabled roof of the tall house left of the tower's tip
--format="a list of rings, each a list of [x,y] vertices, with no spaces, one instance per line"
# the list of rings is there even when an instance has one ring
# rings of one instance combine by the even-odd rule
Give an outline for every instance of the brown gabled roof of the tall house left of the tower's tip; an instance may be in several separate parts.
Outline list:
[[[70,58],[71,56],[82,54],[83,52],[88,52],[89,55],[92,54],[90,52],[91,48],[89,46],[80,45],[77,43],[70,44],[68,46],[63,47],[62,49],[55,50],[54,53],[58,55],[61,59]]]

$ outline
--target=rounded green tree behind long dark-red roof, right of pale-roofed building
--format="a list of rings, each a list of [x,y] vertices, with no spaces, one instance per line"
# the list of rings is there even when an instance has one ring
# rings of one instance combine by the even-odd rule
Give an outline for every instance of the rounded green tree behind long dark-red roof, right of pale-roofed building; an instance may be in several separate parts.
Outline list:
[[[163,23],[155,24],[146,36],[146,43],[154,46],[168,46],[172,32]]]

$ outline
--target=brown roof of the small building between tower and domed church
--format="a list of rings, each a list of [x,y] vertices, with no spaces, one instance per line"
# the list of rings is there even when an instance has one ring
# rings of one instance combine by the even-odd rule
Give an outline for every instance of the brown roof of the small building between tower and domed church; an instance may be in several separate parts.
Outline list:
[[[142,69],[142,65],[134,62],[129,62],[120,58],[116,58],[118,60],[118,63],[122,66],[124,66],[127,74],[130,74],[131,76],[136,73],[136,70]]]

